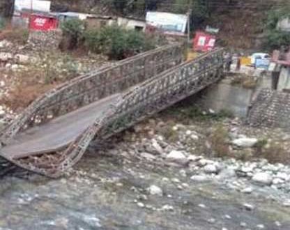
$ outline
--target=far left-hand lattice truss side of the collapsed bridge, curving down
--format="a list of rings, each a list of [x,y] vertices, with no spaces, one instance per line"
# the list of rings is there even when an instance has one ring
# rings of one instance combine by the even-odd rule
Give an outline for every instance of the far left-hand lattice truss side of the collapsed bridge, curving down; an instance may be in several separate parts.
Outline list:
[[[119,61],[114,66],[89,72],[45,93],[27,107],[0,137],[7,143],[20,130],[89,105],[150,79],[183,61],[181,45],[169,45]]]

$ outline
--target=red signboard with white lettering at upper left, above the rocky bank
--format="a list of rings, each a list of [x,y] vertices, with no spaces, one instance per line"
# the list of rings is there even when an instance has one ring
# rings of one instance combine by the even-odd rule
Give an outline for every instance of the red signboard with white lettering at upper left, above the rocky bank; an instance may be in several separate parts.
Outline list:
[[[31,15],[29,29],[33,31],[50,31],[57,29],[58,20],[55,17]]]

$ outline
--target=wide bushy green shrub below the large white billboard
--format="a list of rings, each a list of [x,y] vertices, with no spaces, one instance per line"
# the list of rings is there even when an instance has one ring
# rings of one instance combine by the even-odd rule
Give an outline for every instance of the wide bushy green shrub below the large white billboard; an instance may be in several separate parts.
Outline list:
[[[143,33],[115,25],[86,31],[84,40],[92,52],[101,52],[110,59],[118,60],[154,48],[151,39],[147,39]]]

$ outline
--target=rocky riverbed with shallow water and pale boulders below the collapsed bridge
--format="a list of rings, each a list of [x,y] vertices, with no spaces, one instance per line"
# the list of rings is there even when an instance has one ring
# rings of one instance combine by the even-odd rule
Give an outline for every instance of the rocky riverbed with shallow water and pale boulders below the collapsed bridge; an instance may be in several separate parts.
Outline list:
[[[267,145],[287,133],[232,118],[170,119],[92,144],[58,180],[3,178],[0,229],[290,229],[289,165],[217,158],[212,127],[229,130],[223,144],[234,155],[254,154],[260,138]],[[267,132],[272,140],[265,141]]]

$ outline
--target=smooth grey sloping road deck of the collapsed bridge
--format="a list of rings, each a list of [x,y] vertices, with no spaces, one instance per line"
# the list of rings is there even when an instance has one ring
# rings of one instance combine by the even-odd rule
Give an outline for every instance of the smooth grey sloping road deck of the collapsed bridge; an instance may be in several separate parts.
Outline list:
[[[116,101],[118,95],[111,95],[44,125],[21,132],[1,149],[1,154],[6,158],[23,158],[27,155],[57,151],[67,146],[89,128],[89,125]]]

